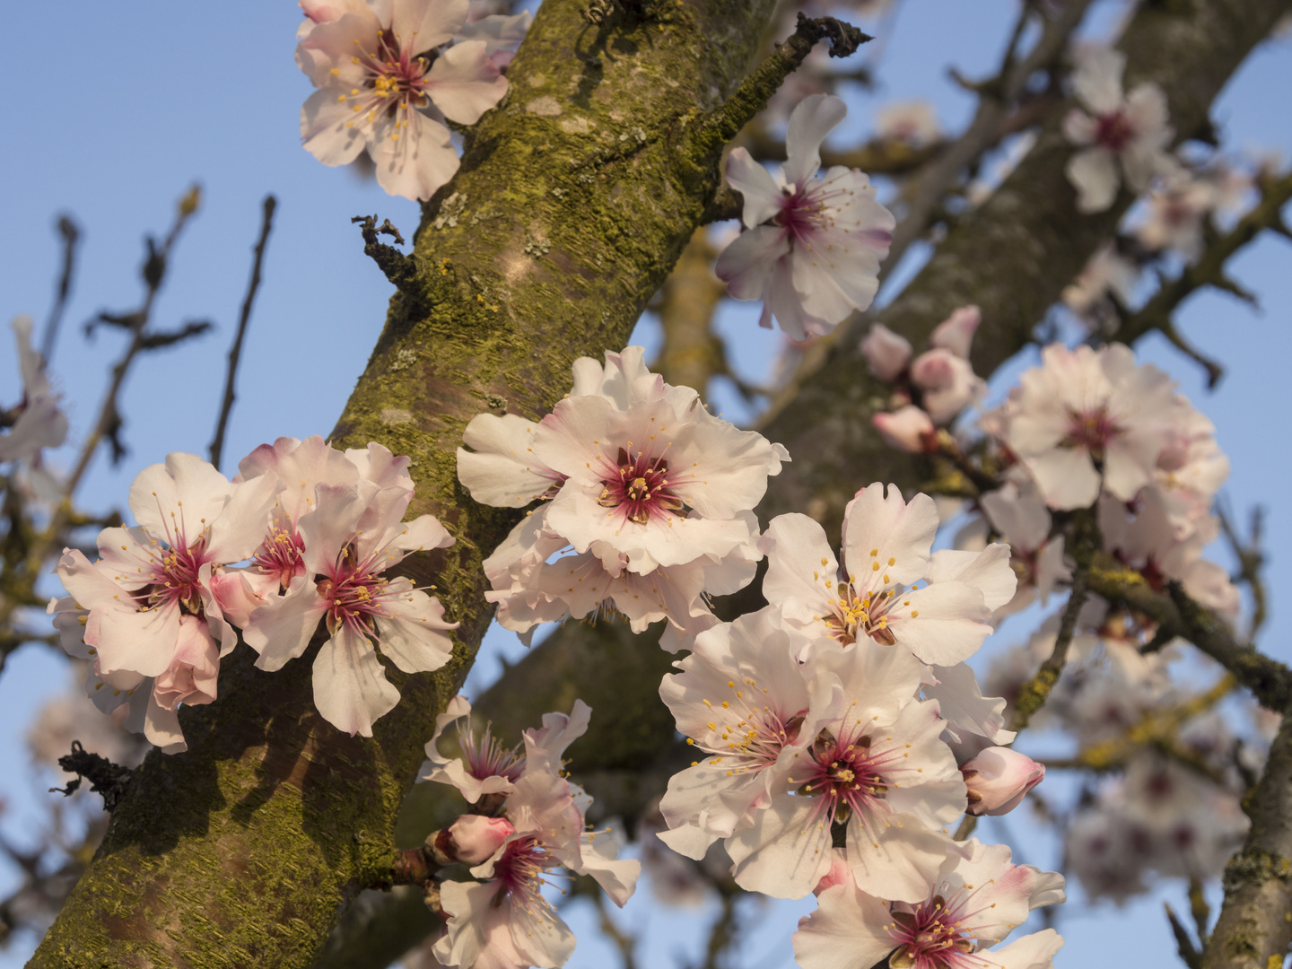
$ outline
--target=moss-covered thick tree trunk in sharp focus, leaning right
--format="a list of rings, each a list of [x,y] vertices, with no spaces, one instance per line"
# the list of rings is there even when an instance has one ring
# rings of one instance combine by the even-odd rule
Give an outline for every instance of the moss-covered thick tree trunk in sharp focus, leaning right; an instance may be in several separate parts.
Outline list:
[[[309,965],[389,870],[422,744],[490,619],[481,559],[513,521],[459,488],[463,428],[491,408],[537,419],[575,357],[625,342],[718,185],[721,145],[683,133],[745,75],[771,1],[647,4],[599,26],[585,5],[543,4],[510,93],[425,207],[415,262],[370,245],[402,291],[333,442],[410,455],[411,513],[457,537],[408,570],[461,621],[453,659],[388,668],[403,700],[363,739],[317,716],[313,649],[274,674],[236,650],[220,702],[181,712],[189,752],[149,756],[30,965]]]

